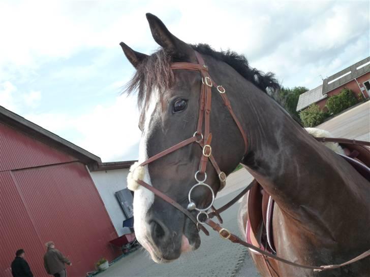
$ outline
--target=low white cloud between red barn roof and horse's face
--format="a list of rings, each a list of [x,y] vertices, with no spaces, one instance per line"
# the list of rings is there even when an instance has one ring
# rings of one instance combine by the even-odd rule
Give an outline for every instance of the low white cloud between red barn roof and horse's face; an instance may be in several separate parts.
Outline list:
[[[28,114],[26,119],[98,155],[103,161],[122,158],[139,141],[136,99],[125,95],[112,105],[98,105],[86,113]]]

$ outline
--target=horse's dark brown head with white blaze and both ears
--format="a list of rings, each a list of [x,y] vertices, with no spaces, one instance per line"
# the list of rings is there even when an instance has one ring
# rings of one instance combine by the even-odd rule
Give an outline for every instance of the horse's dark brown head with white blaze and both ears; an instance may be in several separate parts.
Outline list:
[[[197,140],[203,139],[204,124],[198,133],[197,128],[199,129],[199,118],[203,117],[200,115],[200,97],[204,80],[199,71],[174,70],[171,68],[173,63],[198,63],[199,57],[197,58],[194,49],[203,48],[202,58],[211,80],[222,84],[227,93],[236,95],[241,89],[237,80],[243,79],[229,64],[207,55],[207,51],[213,51],[208,46],[184,43],[159,18],[152,14],[147,14],[146,17],[153,38],[162,48],[148,56],[120,43],[126,57],[137,70],[128,88],[129,93],[138,91],[138,105],[141,110],[139,163],[192,137],[193,134],[199,136]],[[243,158],[246,139],[244,137],[243,140],[240,128],[225,107],[221,95],[225,89],[222,89],[212,88],[213,96],[211,100],[209,98],[212,107],[209,129],[213,158],[224,174],[228,175]],[[234,96],[231,100],[237,109],[245,108],[237,103],[237,97]],[[219,191],[221,181],[217,170],[211,165],[206,167],[205,174],[196,174],[202,155],[198,144],[188,144],[145,164],[140,170],[136,170],[134,179],[143,180],[155,187],[185,209],[189,200],[198,209],[204,209],[212,202],[212,194]],[[198,181],[203,184],[203,179],[204,184],[209,187],[202,185],[193,188]],[[135,190],[135,234],[154,261],[168,262],[177,259],[182,252],[195,250],[200,246],[199,231],[194,222],[146,188],[132,186],[131,189]],[[195,210],[191,213],[198,215]]]

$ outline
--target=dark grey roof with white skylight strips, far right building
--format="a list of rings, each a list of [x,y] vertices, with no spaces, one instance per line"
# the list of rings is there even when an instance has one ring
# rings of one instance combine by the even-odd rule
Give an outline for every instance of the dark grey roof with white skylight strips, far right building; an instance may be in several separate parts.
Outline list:
[[[343,86],[368,72],[370,72],[370,56],[324,79],[322,94]]]

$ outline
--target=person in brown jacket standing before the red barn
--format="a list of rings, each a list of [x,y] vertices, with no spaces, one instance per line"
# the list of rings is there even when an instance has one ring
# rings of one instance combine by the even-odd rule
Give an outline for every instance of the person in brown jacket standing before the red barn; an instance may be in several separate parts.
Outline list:
[[[53,241],[49,241],[45,244],[47,250],[44,255],[44,266],[46,272],[55,277],[66,277],[67,271],[65,264],[72,265],[61,252],[55,249]]]

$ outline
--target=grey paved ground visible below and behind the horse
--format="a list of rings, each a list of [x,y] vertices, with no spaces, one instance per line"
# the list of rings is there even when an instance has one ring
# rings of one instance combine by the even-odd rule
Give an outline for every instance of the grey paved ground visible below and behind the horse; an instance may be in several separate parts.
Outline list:
[[[370,141],[370,101],[334,117],[318,128],[330,131],[333,136]],[[215,206],[226,203],[251,181],[252,176],[245,169],[234,172],[229,176],[226,188],[219,193]],[[224,226],[237,234],[238,206],[235,204],[223,214]],[[209,237],[202,234],[202,245],[197,251],[187,253],[173,263],[158,265],[151,261],[148,254],[138,250],[98,276],[259,276],[245,249],[220,239],[216,232],[210,231]]]

